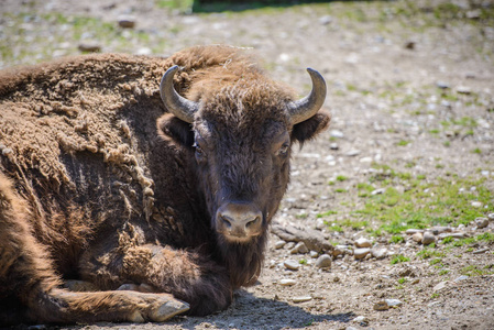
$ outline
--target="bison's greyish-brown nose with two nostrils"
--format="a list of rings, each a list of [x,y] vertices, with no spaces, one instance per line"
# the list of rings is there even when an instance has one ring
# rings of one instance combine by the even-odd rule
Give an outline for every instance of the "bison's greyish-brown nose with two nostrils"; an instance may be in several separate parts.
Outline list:
[[[252,204],[229,202],[218,209],[217,230],[231,240],[255,237],[262,230],[262,212]]]

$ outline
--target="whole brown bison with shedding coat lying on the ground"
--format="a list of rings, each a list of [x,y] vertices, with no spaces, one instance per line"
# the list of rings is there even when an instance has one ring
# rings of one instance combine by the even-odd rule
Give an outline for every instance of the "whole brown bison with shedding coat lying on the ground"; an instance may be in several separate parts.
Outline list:
[[[308,73],[296,99],[229,46],[1,72],[0,324],[226,309],[260,275],[292,146],[329,124]]]

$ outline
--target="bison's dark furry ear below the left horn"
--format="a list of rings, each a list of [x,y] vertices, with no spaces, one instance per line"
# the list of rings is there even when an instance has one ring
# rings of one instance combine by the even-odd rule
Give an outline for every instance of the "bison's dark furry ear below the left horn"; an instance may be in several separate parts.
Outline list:
[[[157,119],[157,132],[165,140],[173,141],[182,146],[193,147],[193,125],[176,118],[172,113],[165,113]]]

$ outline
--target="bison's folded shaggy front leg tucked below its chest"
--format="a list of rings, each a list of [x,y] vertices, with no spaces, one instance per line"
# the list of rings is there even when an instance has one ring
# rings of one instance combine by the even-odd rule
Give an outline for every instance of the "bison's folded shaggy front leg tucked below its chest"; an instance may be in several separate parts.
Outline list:
[[[120,246],[85,260],[83,277],[99,287],[140,289],[145,285],[146,290],[152,287],[188,302],[189,315],[223,310],[232,300],[227,270],[199,253],[146,244]]]

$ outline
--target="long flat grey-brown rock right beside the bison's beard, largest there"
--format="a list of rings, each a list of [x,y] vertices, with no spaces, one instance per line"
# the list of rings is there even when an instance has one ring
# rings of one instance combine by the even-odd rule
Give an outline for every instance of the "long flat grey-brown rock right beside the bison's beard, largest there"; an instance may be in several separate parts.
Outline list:
[[[298,229],[293,226],[273,224],[271,232],[286,242],[304,242],[307,249],[317,252],[332,251],[333,246],[325,237],[314,229]]]

